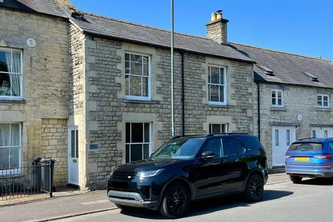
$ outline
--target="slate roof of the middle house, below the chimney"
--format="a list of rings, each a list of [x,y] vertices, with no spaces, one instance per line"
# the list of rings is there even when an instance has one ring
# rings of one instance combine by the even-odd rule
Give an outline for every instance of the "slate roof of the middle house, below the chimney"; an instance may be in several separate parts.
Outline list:
[[[164,48],[169,48],[171,45],[170,32],[160,28],[133,24],[109,17],[101,17],[87,12],[83,12],[83,19],[74,19],[74,22],[85,33]],[[175,33],[174,47],[175,49],[192,53],[253,62],[253,60],[239,53],[239,51],[232,49],[232,47],[219,44],[206,37]]]

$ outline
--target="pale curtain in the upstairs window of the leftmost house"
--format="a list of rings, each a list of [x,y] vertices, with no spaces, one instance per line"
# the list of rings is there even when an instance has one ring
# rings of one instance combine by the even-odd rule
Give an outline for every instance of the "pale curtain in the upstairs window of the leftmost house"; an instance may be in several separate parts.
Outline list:
[[[21,72],[21,53],[6,53],[6,62],[8,67],[8,72],[10,73],[20,73]],[[10,74],[10,85],[12,87],[12,96],[20,96],[20,75]]]

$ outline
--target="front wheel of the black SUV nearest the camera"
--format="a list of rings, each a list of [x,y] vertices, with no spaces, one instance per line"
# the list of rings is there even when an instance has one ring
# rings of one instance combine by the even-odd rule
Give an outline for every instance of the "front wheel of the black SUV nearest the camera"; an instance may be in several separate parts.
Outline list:
[[[173,183],[164,192],[160,213],[170,219],[185,216],[189,211],[189,191],[182,183]]]

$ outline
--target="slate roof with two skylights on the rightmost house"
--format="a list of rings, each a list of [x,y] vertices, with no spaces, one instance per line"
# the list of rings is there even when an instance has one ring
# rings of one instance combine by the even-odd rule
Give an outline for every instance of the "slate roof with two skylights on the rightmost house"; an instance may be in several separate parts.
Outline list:
[[[256,81],[333,88],[333,63],[331,61],[244,44],[232,42],[229,44],[257,62],[255,65]],[[271,69],[274,76],[265,74],[265,71],[259,66]],[[312,81],[309,76],[305,75],[305,72],[316,76],[318,82]]]

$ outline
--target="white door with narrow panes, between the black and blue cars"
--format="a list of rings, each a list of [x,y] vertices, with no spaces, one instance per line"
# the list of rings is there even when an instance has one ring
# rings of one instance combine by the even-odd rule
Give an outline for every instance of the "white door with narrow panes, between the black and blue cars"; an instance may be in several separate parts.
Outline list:
[[[272,128],[272,160],[273,167],[284,166],[285,153],[291,143],[296,141],[295,127]]]

